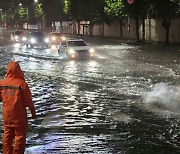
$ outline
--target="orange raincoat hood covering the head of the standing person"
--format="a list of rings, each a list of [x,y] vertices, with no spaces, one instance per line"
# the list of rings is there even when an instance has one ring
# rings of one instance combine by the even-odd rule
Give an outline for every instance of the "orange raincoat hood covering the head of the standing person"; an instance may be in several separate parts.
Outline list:
[[[9,62],[6,77],[13,77],[25,80],[24,73],[21,70],[18,62]]]

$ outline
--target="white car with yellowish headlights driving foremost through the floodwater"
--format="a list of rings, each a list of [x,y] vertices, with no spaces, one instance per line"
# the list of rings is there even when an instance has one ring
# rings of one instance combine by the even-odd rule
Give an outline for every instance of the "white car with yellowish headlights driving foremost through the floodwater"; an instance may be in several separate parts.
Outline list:
[[[68,39],[59,44],[58,53],[59,55],[67,55],[70,59],[81,59],[93,58],[95,50],[82,39]]]

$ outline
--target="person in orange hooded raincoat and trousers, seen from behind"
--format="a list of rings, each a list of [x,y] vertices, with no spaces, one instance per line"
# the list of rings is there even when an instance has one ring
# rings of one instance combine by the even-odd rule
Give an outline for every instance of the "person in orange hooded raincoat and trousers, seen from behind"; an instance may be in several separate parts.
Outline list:
[[[28,128],[26,107],[33,119],[36,112],[24,73],[17,62],[9,62],[6,77],[0,81],[0,100],[3,102],[3,154],[23,154]]]

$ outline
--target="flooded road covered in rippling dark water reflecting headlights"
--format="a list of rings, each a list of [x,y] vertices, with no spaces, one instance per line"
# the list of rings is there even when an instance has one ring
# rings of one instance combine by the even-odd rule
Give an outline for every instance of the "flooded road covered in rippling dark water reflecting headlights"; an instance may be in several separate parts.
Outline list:
[[[96,49],[94,59],[0,49],[0,79],[8,61],[19,61],[36,106],[26,153],[180,153],[179,49],[86,40]]]

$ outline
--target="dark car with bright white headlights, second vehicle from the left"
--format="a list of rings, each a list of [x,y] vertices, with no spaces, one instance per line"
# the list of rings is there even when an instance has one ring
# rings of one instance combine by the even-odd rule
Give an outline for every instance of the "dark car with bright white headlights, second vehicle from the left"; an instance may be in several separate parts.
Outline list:
[[[33,47],[48,47],[49,39],[47,36],[45,36],[42,32],[30,32],[27,41],[26,46],[28,48]]]

